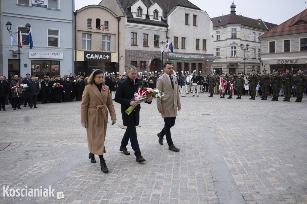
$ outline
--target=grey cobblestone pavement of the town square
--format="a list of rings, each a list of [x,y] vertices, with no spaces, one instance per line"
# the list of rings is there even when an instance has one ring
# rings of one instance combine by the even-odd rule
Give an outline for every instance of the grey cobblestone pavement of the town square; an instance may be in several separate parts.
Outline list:
[[[191,95],[180,98],[182,109],[171,129],[180,152],[169,151],[166,140],[163,146],[158,143],[164,122],[155,101],[141,105],[137,132],[146,159],[141,164],[130,144],[131,155],[119,151],[125,129],[118,126],[120,105],[114,103],[117,121],[108,123],[104,154],[107,174],[97,155],[95,164],[88,159],[80,102],[21,110],[7,106],[0,112],[1,187],[51,186],[64,198],[5,201],[11,197],[2,194],[1,202],[307,203],[307,97],[296,103],[295,98],[276,102]]]

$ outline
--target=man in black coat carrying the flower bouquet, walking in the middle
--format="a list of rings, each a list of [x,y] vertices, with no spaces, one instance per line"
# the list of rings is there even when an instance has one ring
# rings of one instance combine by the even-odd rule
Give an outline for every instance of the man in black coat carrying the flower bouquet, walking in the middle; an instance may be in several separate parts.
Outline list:
[[[124,126],[127,126],[126,132],[122,137],[122,144],[119,148],[124,154],[129,155],[126,146],[130,139],[131,147],[134,150],[137,162],[146,161],[140,151],[138,145],[138,138],[135,126],[138,126],[140,122],[140,109],[141,105],[135,101],[131,101],[134,93],[138,91],[138,88],[142,86],[142,82],[137,79],[137,70],[135,66],[129,66],[127,70],[127,78],[118,83],[117,91],[115,94],[115,102],[121,104],[122,122]],[[148,97],[146,103],[151,103],[152,97]],[[125,111],[129,106],[133,106],[134,110],[128,115]]]

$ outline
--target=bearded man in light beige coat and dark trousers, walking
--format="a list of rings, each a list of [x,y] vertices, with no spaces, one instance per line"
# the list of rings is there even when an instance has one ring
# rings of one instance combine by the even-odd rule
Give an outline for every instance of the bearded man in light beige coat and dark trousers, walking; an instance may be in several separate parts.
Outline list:
[[[164,128],[159,132],[159,143],[163,145],[163,136],[166,135],[166,142],[169,145],[169,150],[179,151],[173,144],[171,137],[171,127],[175,125],[177,110],[181,109],[179,88],[176,76],[173,76],[173,65],[171,62],[166,62],[163,65],[164,74],[157,79],[157,89],[167,94],[165,98],[157,98],[157,108],[164,119]]]

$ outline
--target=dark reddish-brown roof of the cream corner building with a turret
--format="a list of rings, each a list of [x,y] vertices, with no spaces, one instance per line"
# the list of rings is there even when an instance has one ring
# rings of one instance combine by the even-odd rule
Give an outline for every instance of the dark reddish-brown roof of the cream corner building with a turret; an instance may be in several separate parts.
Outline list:
[[[257,29],[269,31],[272,28],[277,26],[277,24],[268,23],[268,22],[262,21],[261,19],[258,20],[258,19],[248,18],[248,17],[244,17],[244,16],[238,16],[238,15],[235,15],[235,17],[237,19],[237,20],[235,20],[234,14],[235,14],[234,12],[231,12],[231,14],[211,18],[212,23],[213,23],[213,28],[219,27],[219,26],[224,26],[224,25],[227,25],[227,24],[239,23],[241,25],[249,26],[249,27],[252,27],[252,28],[257,28]],[[220,23],[218,22],[219,20],[220,20]]]

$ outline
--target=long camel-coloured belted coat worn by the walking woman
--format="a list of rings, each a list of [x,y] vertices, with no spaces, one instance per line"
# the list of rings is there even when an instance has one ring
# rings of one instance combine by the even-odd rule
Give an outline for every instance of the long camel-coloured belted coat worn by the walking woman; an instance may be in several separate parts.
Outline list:
[[[109,87],[103,85],[101,92],[95,84],[85,87],[81,102],[81,123],[87,123],[87,144],[92,154],[106,153],[104,140],[107,132],[108,110],[111,120],[116,119]]]

